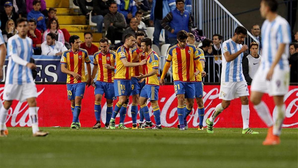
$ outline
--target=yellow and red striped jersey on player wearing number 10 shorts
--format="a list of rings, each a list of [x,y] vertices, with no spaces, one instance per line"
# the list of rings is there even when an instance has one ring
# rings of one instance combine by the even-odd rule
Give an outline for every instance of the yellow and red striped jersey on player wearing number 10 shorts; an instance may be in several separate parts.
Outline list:
[[[77,53],[74,53],[71,49],[63,52],[60,64],[66,64],[66,68],[69,71],[73,71],[81,76],[81,80],[76,80],[72,75],[67,74],[66,83],[75,84],[87,81],[85,62],[90,63],[87,50],[80,48]]]

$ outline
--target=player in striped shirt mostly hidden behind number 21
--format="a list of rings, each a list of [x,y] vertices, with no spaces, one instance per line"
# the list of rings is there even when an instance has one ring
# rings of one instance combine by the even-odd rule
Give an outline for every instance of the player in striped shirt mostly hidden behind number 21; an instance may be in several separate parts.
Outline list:
[[[193,44],[195,45],[195,36],[193,35],[193,33],[188,33],[187,34],[188,37],[186,39],[186,42],[188,44]],[[197,47],[197,50],[199,50],[201,52],[201,54],[199,55],[200,58],[200,62],[202,64],[202,68],[205,68],[205,56],[204,56],[204,51],[201,50],[201,48]],[[196,72],[198,72],[198,74],[195,74],[195,100],[197,102],[198,105],[198,116],[199,116],[199,128],[198,130],[203,130],[203,120],[204,120],[204,114],[205,114],[205,108],[204,108],[204,102],[203,102],[203,82],[202,82],[202,77],[206,76],[206,73],[204,71],[202,71],[202,73],[200,71],[197,71],[196,68],[196,64],[195,62],[193,63],[193,68],[195,69]],[[189,115],[189,113],[185,113],[184,116],[184,120],[186,120],[186,117]]]

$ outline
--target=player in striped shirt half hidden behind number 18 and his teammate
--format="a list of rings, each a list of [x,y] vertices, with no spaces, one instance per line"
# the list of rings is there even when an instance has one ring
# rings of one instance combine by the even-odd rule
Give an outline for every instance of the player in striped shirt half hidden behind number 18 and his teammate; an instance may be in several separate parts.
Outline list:
[[[136,46],[131,49],[132,56],[133,56],[133,62],[141,62],[143,59],[146,59],[147,53],[141,49],[141,40],[145,38],[145,33],[142,31],[138,31],[135,34],[136,37]],[[131,95],[132,95],[132,103],[131,103],[131,118],[132,118],[132,128],[131,129],[137,129],[136,124],[136,117],[138,114],[138,101],[139,101],[139,95],[141,93],[142,88],[145,85],[145,80],[143,82],[140,82],[138,78],[135,76],[139,76],[140,73],[145,73],[145,67],[146,65],[142,66],[136,66],[132,68],[132,74],[131,74]],[[122,106],[123,107],[123,106]],[[122,109],[121,109],[122,110]],[[139,128],[141,128],[144,120],[144,114],[142,111],[140,111],[140,123]]]

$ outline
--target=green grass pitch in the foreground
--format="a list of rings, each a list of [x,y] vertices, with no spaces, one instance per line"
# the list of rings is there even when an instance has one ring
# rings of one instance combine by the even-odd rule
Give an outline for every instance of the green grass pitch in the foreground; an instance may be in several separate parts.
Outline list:
[[[283,129],[281,144],[263,146],[267,129],[242,135],[241,129],[108,130],[9,128],[0,138],[1,168],[92,167],[298,167],[298,129]]]

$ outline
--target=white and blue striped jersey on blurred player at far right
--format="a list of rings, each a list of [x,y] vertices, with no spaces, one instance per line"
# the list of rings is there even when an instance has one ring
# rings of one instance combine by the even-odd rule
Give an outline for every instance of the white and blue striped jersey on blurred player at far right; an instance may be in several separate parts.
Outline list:
[[[261,67],[264,70],[269,70],[272,62],[275,59],[278,46],[286,44],[285,51],[276,67],[281,70],[289,69],[289,44],[291,43],[291,29],[288,22],[281,16],[277,16],[274,21],[265,20],[262,25],[262,60]]]

